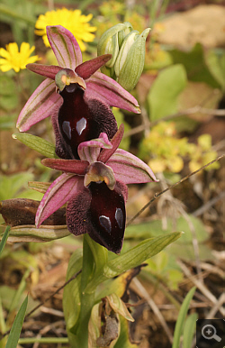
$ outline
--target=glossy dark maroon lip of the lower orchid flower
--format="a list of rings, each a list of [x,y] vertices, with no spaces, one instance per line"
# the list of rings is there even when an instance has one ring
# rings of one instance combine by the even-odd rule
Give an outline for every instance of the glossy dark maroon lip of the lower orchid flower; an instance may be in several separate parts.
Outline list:
[[[121,252],[125,229],[125,203],[121,193],[104,182],[89,185],[92,194],[90,219],[94,227],[91,237],[112,252]]]

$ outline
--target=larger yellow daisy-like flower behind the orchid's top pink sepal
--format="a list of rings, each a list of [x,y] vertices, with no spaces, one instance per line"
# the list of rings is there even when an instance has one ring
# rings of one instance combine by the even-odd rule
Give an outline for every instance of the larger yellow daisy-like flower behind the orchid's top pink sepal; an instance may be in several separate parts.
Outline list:
[[[62,25],[69,32],[72,32],[78,42],[80,49],[85,50],[85,42],[94,41],[94,32],[96,27],[88,23],[92,19],[92,14],[81,14],[80,10],[67,10],[61,8],[56,11],[48,11],[46,14],[40,14],[35,28],[35,33],[42,36],[45,46],[49,47],[49,41],[46,35],[47,25]]]

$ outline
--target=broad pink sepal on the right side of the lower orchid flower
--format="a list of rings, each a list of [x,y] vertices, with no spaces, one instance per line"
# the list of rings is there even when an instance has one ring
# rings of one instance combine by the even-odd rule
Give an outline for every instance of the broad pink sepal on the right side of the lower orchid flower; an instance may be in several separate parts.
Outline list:
[[[118,149],[106,164],[112,168],[115,179],[123,184],[158,181],[148,165],[128,151]]]

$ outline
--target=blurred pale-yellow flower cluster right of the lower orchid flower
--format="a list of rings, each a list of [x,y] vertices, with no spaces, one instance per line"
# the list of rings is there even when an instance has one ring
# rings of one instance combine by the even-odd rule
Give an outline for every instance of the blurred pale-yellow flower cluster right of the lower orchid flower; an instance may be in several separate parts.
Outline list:
[[[152,158],[148,160],[150,154]],[[148,165],[156,173],[179,173],[184,168],[184,158],[189,160],[189,169],[194,171],[215,160],[217,152],[211,149],[210,134],[202,134],[195,144],[188,142],[187,138],[177,138],[175,123],[161,122],[143,140],[139,155],[148,160]],[[215,162],[209,169],[218,168],[220,165]]]

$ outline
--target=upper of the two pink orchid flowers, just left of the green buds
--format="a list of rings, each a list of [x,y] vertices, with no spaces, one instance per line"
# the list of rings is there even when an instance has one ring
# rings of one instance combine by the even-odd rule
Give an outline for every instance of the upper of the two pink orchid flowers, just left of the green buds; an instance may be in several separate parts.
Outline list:
[[[109,139],[117,131],[110,106],[139,113],[137,100],[112,78],[97,71],[110,54],[82,63],[82,53],[71,32],[61,25],[48,26],[49,44],[58,66],[28,64],[27,69],[46,79],[34,91],[18,117],[21,132],[51,116],[56,135],[56,153],[60,158],[78,159],[80,142],[106,133]]]

